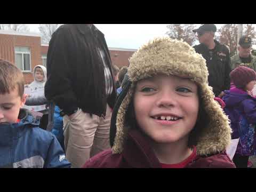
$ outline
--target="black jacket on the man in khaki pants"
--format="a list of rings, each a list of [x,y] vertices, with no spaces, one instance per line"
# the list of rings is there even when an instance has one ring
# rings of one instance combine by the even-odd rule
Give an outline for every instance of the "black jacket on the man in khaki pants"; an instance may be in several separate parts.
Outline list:
[[[107,103],[114,107],[116,89],[114,87],[110,97],[106,97],[104,68],[98,47],[105,51],[107,65],[114,77],[105,37],[96,27],[62,25],[52,35],[47,53],[45,97],[63,111],[79,107],[85,113],[105,116]]]

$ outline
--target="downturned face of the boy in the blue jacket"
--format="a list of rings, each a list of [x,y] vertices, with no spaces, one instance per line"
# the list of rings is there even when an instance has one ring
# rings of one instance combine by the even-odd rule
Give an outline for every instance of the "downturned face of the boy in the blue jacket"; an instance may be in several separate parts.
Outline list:
[[[26,102],[26,95],[20,97],[18,89],[0,94],[0,123],[16,123],[20,108]]]

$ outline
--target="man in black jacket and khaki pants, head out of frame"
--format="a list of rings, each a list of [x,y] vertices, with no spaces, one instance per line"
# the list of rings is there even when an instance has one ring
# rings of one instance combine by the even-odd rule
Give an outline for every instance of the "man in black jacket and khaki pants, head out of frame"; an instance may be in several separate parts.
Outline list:
[[[45,96],[62,109],[65,150],[73,167],[110,147],[116,89],[105,37],[94,25],[67,24],[55,31]]]

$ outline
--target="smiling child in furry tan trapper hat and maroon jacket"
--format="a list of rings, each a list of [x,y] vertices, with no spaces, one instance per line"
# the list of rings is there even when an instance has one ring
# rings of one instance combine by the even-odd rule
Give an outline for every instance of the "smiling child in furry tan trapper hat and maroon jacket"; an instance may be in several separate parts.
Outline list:
[[[225,151],[228,118],[191,46],[156,38],[133,54],[127,73],[111,118],[112,149],[83,167],[235,167]]]

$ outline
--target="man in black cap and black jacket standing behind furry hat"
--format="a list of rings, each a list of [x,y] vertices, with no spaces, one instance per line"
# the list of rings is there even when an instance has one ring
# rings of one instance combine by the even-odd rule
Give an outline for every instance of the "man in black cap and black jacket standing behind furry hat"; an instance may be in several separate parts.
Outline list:
[[[230,88],[230,54],[225,45],[214,39],[217,28],[214,24],[204,24],[193,30],[197,33],[199,45],[195,45],[195,51],[202,54],[206,60],[209,71],[209,85],[213,87],[215,97],[222,97],[224,90]]]

